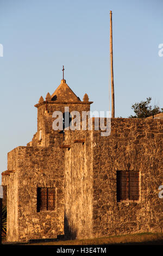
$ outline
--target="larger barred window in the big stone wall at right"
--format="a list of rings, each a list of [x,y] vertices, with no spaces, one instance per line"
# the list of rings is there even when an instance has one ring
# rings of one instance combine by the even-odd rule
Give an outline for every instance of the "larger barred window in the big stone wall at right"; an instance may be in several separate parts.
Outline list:
[[[117,202],[139,200],[139,172],[117,171]]]

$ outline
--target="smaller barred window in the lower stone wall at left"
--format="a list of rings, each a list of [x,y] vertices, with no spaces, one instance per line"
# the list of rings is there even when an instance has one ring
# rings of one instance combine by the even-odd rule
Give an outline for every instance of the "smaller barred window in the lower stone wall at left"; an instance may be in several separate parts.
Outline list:
[[[56,188],[37,187],[37,212],[54,211],[56,207]]]

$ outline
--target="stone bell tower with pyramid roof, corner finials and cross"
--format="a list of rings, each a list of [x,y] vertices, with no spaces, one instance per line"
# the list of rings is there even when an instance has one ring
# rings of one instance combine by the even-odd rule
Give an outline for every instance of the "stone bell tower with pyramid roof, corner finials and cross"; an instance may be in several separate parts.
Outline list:
[[[74,94],[64,79],[64,66],[62,69],[63,77],[60,85],[51,95],[47,93],[45,100],[41,96],[39,102],[35,105],[37,108],[37,132],[33,138],[32,145],[40,145],[43,147],[53,146],[60,143],[63,139],[61,130],[54,131],[52,117],[54,111],[62,112],[65,115],[65,109],[68,107],[69,112],[78,111],[82,117],[82,111],[90,111],[90,105],[87,94],[84,95],[83,101]]]

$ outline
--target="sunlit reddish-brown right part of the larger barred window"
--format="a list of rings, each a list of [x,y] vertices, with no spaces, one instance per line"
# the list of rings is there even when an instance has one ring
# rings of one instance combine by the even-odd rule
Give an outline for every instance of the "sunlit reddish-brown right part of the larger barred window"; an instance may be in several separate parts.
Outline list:
[[[129,172],[129,200],[139,200],[139,172]]]

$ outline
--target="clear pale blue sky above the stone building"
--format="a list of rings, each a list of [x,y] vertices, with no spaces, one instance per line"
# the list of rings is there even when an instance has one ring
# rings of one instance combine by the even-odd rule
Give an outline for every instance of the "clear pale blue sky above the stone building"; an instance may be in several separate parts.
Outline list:
[[[110,10],[115,117],[149,96],[163,107],[162,0],[0,0],[0,173],[7,153],[31,141],[34,104],[59,86],[62,65],[73,92],[94,102],[91,111],[109,110]]]

